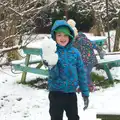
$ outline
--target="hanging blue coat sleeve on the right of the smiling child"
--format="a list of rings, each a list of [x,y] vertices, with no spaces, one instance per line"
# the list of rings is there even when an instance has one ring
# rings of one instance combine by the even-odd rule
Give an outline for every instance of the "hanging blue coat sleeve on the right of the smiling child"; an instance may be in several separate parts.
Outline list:
[[[84,69],[84,64],[80,53],[78,53],[78,57],[77,57],[77,72],[78,72],[78,83],[80,90],[82,92],[82,96],[89,96],[86,72]]]

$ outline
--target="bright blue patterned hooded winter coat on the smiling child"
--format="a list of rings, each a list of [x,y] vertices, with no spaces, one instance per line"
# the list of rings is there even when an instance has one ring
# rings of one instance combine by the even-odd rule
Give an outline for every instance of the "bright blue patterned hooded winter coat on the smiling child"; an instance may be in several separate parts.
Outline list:
[[[52,27],[51,36],[55,38],[55,29],[59,26],[67,26],[71,35],[74,36],[72,28],[64,20],[57,20]],[[72,46],[72,41],[63,47],[57,44],[58,63],[49,70],[48,89],[50,91],[61,91],[64,93],[76,92],[80,86],[83,96],[89,96],[89,90],[80,52]]]

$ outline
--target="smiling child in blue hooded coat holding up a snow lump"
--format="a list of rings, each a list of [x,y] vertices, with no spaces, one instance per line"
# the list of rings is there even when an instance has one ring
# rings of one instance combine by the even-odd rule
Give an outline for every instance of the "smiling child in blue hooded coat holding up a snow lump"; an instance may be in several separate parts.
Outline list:
[[[57,20],[51,30],[57,42],[57,64],[49,69],[48,89],[51,120],[79,120],[76,91],[78,86],[84,100],[84,110],[89,103],[89,90],[79,51],[72,46],[74,31],[65,20]]]

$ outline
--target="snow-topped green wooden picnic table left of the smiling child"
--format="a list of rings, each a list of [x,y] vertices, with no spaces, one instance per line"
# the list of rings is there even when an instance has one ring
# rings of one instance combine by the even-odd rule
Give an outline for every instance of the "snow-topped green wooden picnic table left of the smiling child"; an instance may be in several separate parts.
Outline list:
[[[22,77],[21,77],[21,83],[26,83],[26,75],[27,72],[39,74],[39,75],[45,75],[48,76],[48,70],[42,69],[43,63],[41,61],[41,55],[42,50],[41,48],[23,48],[24,53],[26,54],[26,57],[24,60],[17,60],[12,62],[12,66],[17,71],[22,71]],[[30,59],[31,55],[37,55],[37,58]],[[36,67],[30,67],[31,64],[37,64]]]

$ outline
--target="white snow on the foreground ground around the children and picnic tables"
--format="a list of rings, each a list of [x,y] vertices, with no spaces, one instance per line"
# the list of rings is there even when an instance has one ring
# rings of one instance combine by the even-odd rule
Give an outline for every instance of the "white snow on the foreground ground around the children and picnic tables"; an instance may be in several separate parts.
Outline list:
[[[120,57],[119,55],[117,57],[114,55],[105,57],[106,60],[115,58]],[[96,71],[93,69],[93,71],[107,77],[103,70]],[[120,67],[114,67],[110,71],[114,79],[120,79]],[[50,120],[49,92],[45,89],[18,84],[21,75],[22,73],[13,74],[9,66],[0,68],[0,120]],[[28,73],[27,81],[38,77],[45,78],[45,76]],[[86,111],[86,113],[82,111],[83,99],[81,94],[77,94],[81,120],[84,113],[87,114],[85,120],[96,113],[120,114],[119,93],[120,84],[90,93],[90,104],[87,110],[89,112]],[[64,120],[67,120],[65,113]]]

